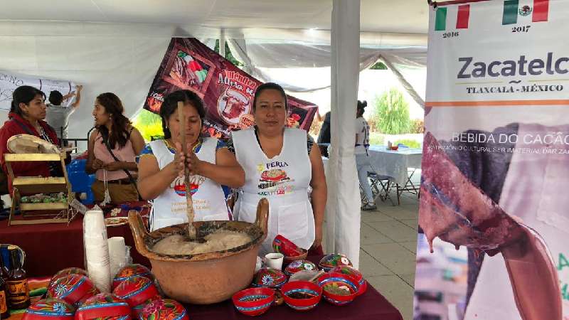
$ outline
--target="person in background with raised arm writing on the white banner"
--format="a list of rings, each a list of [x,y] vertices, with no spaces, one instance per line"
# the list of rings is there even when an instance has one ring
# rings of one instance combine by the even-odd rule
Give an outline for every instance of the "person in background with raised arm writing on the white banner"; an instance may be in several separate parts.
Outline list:
[[[81,90],[83,89],[83,85],[78,85],[75,87],[76,92],[71,92],[68,95],[61,95],[61,92],[57,90],[53,90],[49,94],[49,104],[46,121],[48,124],[55,129],[55,133],[58,135],[58,139],[67,139],[67,127],[69,122],[69,116],[77,110],[79,104],[81,102]],[[75,96],[75,102],[73,102],[69,107],[63,105],[65,100],[68,100],[70,97]],[[62,135],[63,132],[63,135]],[[65,144],[65,141],[63,141]]]

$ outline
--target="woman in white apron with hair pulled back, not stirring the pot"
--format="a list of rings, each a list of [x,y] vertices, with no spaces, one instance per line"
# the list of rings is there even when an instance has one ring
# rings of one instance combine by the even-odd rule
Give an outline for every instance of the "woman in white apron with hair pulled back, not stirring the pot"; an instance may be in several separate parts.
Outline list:
[[[272,252],[272,240],[277,235],[321,252],[326,178],[320,151],[312,147],[314,140],[306,131],[285,128],[287,96],[280,85],[257,87],[252,109],[255,127],[233,132],[228,142],[245,170],[245,186],[240,190],[235,214],[238,220],[253,222],[257,203],[267,198],[269,233],[261,254]]]

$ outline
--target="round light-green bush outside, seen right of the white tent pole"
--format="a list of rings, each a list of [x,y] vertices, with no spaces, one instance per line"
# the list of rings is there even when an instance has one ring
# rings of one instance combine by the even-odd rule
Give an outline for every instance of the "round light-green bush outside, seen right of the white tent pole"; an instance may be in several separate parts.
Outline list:
[[[373,120],[384,134],[405,134],[411,129],[409,104],[403,93],[395,88],[384,92],[374,101]]]

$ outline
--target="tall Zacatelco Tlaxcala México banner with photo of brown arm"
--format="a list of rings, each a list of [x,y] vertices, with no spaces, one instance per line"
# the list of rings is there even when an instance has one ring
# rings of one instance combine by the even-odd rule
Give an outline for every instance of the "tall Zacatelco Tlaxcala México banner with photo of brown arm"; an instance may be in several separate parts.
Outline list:
[[[569,320],[569,1],[430,9],[413,319]]]

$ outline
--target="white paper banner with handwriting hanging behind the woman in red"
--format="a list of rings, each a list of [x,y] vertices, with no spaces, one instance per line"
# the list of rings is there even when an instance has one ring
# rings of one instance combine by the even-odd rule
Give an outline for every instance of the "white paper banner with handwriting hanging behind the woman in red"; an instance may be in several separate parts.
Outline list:
[[[31,78],[0,71],[0,110],[10,110],[12,92],[21,85],[36,87],[45,93],[46,97],[49,97],[52,90],[58,90],[62,95],[68,95],[75,90],[75,84],[70,81]],[[70,105],[72,102],[73,99],[69,99],[64,104]]]

